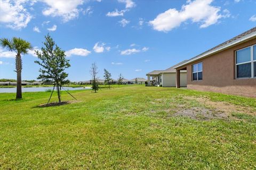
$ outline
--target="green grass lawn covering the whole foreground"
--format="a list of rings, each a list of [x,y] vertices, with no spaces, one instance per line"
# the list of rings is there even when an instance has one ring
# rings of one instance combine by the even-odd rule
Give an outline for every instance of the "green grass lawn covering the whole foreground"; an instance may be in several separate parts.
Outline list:
[[[39,107],[50,92],[0,94],[0,169],[256,168],[256,99],[144,86],[69,92],[79,101],[54,107]]]

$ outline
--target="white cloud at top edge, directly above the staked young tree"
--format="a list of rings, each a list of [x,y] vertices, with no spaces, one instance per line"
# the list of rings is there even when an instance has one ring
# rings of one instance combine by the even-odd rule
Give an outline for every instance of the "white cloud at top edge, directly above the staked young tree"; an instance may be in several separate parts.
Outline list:
[[[43,10],[43,14],[46,16],[60,16],[63,22],[67,22],[69,20],[73,20],[78,17],[79,10],[77,6],[83,4],[83,0],[43,0],[49,7]]]

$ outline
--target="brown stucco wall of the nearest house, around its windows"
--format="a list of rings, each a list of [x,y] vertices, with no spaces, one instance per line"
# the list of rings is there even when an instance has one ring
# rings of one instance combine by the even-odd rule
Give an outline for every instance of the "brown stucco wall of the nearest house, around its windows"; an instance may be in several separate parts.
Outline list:
[[[235,51],[254,44],[256,39],[187,64],[187,88],[256,97],[256,78],[236,79],[235,75]],[[192,65],[199,62],[203,63],[203,80],[192,81]]]

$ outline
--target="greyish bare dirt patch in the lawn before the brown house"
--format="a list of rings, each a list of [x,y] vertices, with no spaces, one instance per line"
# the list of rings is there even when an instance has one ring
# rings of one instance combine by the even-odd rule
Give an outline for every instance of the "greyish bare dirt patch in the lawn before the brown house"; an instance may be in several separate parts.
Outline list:
[[[207,121],[215,118],[228,119],[229,115],[223,112],[215,111],[201,107],[192,107],[175,112],[172,116],[187,116],[196,120]]]

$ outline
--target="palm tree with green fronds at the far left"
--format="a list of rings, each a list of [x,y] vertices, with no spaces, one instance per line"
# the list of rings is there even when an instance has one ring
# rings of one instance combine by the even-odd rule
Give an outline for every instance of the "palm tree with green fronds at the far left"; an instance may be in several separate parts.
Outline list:
[[[21,92],[21,70],[22,70],[22,60],[21,55],[28,54],[28,50],[32,49],[31,44],[23,40],[21,38],[13,37],[12,39],[1,38],[0,45],[3,48],[7,48],[9,51],[14,51],[17,53],[15,57],[15,66],[17,72],[17,92],[16,92],[16,99],[22,98]]]

